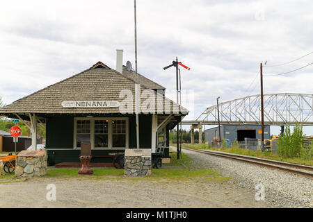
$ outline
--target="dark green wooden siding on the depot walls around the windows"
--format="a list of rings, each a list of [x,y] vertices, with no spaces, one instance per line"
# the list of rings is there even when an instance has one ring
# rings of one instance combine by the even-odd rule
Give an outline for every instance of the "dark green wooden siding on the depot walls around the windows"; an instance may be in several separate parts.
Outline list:
[[[136,116],[127,115],[129,117],[129,148],[136,148]],[[139,133],[140,133],[140,148],[151,148],[151,130],[152,130],[152,115],[139,115]],[[166,127],[167,143],[169,145],[169,129]],[[74,116],[65,117],[50,117],[46,124],[46,147],[49,156],[49,165],[58,164],[61,162],[80,162],[80,150],[63,150],[63,148],[72,148],[74,138]],[[58,150],[58,148],[60,150]],[[109,155],[113,152],[123,152],[124,150],[93,150],[92,155]],[[164,157],[169,156],[169,150],[166,148]],[[112,162],[111,157],[93,158],[91,162]]]

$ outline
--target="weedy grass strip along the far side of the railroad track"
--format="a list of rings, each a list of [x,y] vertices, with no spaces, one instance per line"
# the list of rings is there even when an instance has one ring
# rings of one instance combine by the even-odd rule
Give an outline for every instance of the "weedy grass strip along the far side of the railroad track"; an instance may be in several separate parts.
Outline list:
[[[209,149],[211,151],[221,151],[226,153],[235,153],[235,154],[241,154],[241,155],[250,155],[253,157],[259,157],[269,160],[278,160],[282,162],[290,162],[294,164],[303,164],[308,166],[313,166],[313,159],[310,160],[304,160],[300,157],[294,157],[294,158],[283,158],[280,157],[279,154],[271,153],[271,152],[262,152],[262,151],[250,151],[245,148],[238,148],[238,147],[230,147],[230,148],[208,148],[208,145],[205,144],[184,144],[184,147],[187,148],[197,148],[197,149]]]

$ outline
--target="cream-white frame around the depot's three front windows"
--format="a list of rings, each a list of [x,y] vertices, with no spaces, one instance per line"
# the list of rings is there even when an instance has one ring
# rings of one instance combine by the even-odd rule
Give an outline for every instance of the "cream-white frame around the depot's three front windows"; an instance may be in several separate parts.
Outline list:
[[[95,120],[109,120],[108,123],[108,147],[99,147],[95,148]],[[90,120],[90,143],[91,149],[93,150],[124,150],[125,148],[129,148],[129,126],[128,117],[74,117],[74,149],[81,149],[77,147],[77,120]],[[126,133],[126,142],[125,147],[113,147],[112,146],[112,120],[125,120],[125,133]]]

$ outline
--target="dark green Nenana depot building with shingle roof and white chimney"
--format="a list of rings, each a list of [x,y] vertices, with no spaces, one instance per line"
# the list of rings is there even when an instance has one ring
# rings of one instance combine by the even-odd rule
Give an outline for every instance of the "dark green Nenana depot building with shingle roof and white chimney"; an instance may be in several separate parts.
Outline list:
[[[79,162],[81,142],[91,144],[91,162],[112,162],[109,153],[136,148],[135,78],[134,71],[122,66],[118,50],[116,70],[97,62],[7,105],[0,114],[29,121],[32,146],[38,125],[45,124],[49,165]],[[188,110],[166,98],[166,89],[154,81],[138,74],[137,83],[140,148],[154,153],[163,142],[168,157],[169,130]]]

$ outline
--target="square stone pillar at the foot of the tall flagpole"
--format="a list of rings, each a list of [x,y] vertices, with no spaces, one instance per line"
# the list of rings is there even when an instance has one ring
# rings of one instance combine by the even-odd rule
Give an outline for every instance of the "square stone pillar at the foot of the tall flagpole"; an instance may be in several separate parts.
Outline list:
[[[125,176],[149,176],[152,168],[150,148],[125,149]]]

